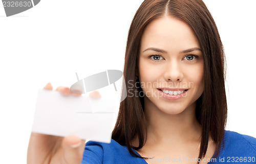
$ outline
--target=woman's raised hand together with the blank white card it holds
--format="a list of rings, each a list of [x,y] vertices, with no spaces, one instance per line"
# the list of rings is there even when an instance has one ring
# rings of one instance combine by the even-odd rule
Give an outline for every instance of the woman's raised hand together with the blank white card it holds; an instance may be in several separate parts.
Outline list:
[[[52,91],[48,84],[44,89],[38,92],[28,163],[56,163],[63,159],[80,163],[85,139],[111,141],[113,106],[97,91],[85,97],[71,93],[68,87]],[[91,107],[95,104],[105,107],[97,111]]]

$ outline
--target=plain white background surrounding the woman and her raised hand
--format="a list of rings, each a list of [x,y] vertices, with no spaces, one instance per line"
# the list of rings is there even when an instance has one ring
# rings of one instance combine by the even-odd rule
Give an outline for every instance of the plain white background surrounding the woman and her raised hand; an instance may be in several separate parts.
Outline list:
[[[227,59],[227,130],[256,137],[255,1],[210,1]],[[123,70],[127,33],[142,1],[42,0],[6,17],[0,7],[0,163],[26,163],[37,90]]]

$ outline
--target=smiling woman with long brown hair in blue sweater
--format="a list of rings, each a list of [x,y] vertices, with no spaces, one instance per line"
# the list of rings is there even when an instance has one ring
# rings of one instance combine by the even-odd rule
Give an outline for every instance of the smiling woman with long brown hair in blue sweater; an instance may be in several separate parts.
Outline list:
[[[110,144],[89,141],[84,150],[75,136],[32,133],[28,162],[255,162],[256,139],[224,129],[225,56],[202,1],[145,0],[130,27],[124,78]]]

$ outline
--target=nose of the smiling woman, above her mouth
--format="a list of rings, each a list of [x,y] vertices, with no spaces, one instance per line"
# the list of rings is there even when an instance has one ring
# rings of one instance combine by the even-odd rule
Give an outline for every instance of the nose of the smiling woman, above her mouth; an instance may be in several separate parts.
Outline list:
[[[166,64],[164,79],[172,82],[180,82],[183,79],[181,65],[176,60],[172,60]]]

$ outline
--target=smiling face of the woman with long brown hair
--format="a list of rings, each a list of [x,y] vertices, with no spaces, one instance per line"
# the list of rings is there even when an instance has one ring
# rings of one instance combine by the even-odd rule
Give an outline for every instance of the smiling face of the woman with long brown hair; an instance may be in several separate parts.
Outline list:
[[[139,52],[145,106],[179,114],[195,105],[204,89],[203,66],[199,42],[189,25],[170,16],[152,21]]]

